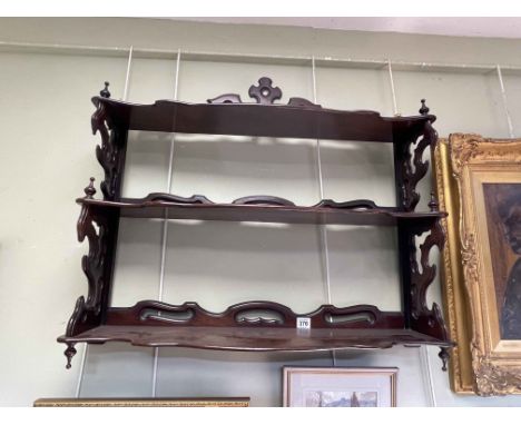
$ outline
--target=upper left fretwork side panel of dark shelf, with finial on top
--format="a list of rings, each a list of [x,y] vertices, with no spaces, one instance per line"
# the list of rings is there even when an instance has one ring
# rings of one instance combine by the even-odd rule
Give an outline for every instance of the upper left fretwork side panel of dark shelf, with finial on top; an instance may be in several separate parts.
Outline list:
[[[100,96],[109,98],[108,82],[105,85]],[[92,113],[90,120],[92,134],[96,135],[99,131],[101,136],[101,145],[96,147],[96,157],[105,171],[105,179],[101,181],[100,188],[104,199],[116,200],[121,195],[127,131],[121,130],[121,126],[111,119],[106,103],[100,102],[98,98],[94,98],[92,102],[96,106],[96,112]]]

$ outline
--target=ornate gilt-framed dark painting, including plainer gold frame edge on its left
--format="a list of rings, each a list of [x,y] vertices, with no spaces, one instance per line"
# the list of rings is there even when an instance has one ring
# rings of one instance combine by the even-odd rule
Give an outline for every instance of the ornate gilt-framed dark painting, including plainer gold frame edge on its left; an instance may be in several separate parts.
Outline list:
[[[435,171],[452,388],[521,394],[521,139],[451,135]]]

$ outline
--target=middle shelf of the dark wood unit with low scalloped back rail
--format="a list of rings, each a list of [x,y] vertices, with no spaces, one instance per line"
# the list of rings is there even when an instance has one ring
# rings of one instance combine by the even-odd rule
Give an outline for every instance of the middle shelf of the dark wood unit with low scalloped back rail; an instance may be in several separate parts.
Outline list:
[[[377,207],[367,200],[334,202],[323,200],[314,206],[302,207],[271,197],[249,197],[256,204],[214,204],[204,196],[181,198],[175,195],[151,194],[146,198],[122,198],[109,201],[91,198],[78,198],[77,202],[98,208],[118,209],[121,217],[223,220],[223,221],[260,221],[316,225],[357,225],[357,226],[395,226],[400,221],[432,223],[445,217],[442,211],[405,212],[396,208]],[[262,204],[258,199],[277,199],[279,205],[269,200]],[[243,198],[246,199],[246,198]],[[250,200],[252,201],[252,200]]]

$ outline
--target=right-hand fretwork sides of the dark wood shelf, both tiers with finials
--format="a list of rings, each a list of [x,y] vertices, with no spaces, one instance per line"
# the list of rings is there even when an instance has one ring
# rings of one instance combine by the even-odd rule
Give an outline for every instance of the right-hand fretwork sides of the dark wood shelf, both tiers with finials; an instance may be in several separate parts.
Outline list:
[[[427,116],[429,108],[422,99],[420,113]],[[419,181],[429,171],[429,160],[424,154],[429,147],[431,157],[438,142],[438,132],[432,127],[432,120],[419,121],[406,130],[396,131],[394,137],[394,168],[396,182],[396,206],[404,211],[414,211],[420,194],[416,190]],[[439,204],[433,192],[429,202],[431,211],[439,210]],[[426,304],[426,291],[436,276],[436,266],[430,264],[429,255],[434,246],[443,248],[445,236],[440,219],[421,224],[399,224],[400,268],[402,275],[403,309],[406,327],[440,340],[448,340],[448,332],[443,315],[438,304],[431,307]],[[416,238],[429,233],[423,244],[416,247]],[[416,253],[420,249],[420,259]],[[443,370],[446,370],[449,352],[441,348]]]

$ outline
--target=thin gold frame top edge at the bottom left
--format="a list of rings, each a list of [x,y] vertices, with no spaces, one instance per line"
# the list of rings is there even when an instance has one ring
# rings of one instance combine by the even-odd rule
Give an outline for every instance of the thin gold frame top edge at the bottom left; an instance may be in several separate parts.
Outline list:
[[[249,397],[38,398],[33,407],[249,407]]]

